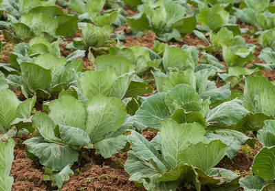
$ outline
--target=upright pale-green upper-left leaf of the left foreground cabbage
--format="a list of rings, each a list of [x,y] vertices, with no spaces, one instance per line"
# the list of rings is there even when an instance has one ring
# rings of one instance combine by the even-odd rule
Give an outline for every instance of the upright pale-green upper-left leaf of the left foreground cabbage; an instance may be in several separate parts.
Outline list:
[[[81,102],[70,95],[64,95],[49,104],[49,116],[54,124],[73,126],[85,130],[86,111]]]

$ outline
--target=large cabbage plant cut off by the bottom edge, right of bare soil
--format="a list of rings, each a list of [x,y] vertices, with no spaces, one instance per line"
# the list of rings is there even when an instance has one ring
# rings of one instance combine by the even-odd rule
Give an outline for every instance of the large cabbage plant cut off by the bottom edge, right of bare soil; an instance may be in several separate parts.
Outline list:
[[[198,123],[177,124],[164,120],[157,137],[148,142],[131,131],[131,150],[125,164],[130,181],[141,183],[146,190],[177,190],[195,186],[201,190],[235,190],[239,176],[230,170],[214,168],[229,146],[220,140],[205,141],[206,130]],[[202,157],[203,156],[203,157]]]

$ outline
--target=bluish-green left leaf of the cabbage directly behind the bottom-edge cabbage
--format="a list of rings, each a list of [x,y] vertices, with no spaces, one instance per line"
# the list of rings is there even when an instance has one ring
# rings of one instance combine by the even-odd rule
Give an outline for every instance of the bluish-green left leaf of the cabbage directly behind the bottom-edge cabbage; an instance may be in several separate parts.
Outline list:
[[[170,112],[164,103],[166,93],[156,93],[149,96],[135,112],[135,126],[140,129],[151,126],[159,128],[160,122],[170,116]]]

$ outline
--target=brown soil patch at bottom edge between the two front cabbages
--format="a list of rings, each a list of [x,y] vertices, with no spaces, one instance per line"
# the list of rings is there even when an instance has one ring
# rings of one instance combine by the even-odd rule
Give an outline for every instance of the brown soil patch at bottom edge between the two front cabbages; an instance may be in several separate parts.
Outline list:
[[[69,181],[63,185],[63,191],[69,190],[140,190],[135,184],[129,181],[129,175],[124,170],[124,163],[127,153],[118,153],[110,159],[103,159],[98,156],[99,163],[89,162],[82,169],[80,175],[73,175]],[[79,168],[78,168],[79,169]]]

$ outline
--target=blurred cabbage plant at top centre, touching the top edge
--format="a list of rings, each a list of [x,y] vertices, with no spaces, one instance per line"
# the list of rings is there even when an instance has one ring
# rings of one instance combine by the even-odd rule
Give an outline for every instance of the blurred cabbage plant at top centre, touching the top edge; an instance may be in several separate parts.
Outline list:
[[[138,14],[127,18],[131,30],[153,30],[161,41],[181,38],[196,27],[196,17],[187,16],[186,8],[177,1],[148,0],[138,5],[137,9],[140,11]]]

